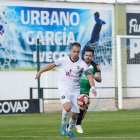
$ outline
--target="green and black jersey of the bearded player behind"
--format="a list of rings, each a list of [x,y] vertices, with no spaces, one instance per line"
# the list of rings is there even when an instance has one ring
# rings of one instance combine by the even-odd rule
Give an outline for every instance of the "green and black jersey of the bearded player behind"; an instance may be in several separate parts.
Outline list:
[[[101,73],[99,65],[97,65],[95,62],[91,63],[91,65],[89,66],[89,71],[90,73],[93,73],[93,75],[96,72]],[[80,78],[80,94],[89,94],[89,92],[90,92],[90,83],[85,72],[83,72]]]

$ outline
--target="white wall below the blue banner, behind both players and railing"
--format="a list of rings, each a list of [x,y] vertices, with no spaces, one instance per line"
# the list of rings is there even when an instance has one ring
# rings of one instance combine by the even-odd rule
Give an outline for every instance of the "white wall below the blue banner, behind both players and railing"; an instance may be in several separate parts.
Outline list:
[[[128,86],[139,86],[139,69],[134,67],[128,67],[128,71],[131,71],[127,76]],[[133,75],[135,74],[135,76]],[[0,100],[11,99],[29,99],[29,88],[37,87],[37,80],[35,80],[35,71],[31,72],[0,72]],[[45,72],[40,79],[41,87],[58,87],[58,75],[57,71]],[[102,70],[102,83],[96,83],[97,87],[114,87],[113,69]],[[136,78],[137,77],[137,78]],[[131,90],[133,90],[131,92]],[[134,89],[129,89],[128,96],[140,96],[139,92]],[[97,89],[97,97],[114,97],[114,89]],[[37,90],[34,90],[33,97],[37,98]],[[92,95],[91,95],[92,96]],[[45,98],[59,98],[58,90],[44,90]]]

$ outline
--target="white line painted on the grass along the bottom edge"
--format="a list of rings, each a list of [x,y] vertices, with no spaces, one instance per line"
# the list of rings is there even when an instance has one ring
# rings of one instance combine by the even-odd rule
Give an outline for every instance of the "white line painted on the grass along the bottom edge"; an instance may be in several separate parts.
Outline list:
[[[56,136],[56,137],[53,137],[53,136],[0,136],[0,138],[40,138],[40,139],[60,139],[60,138],[66,138],[66,137],[59,137],[59,136]],[[94,136],[91,136],[91,137],[75,137],[75,139],[116,139],[116,138],[119,138],[119,139],[140,139],[140,137],[94,137]]]

